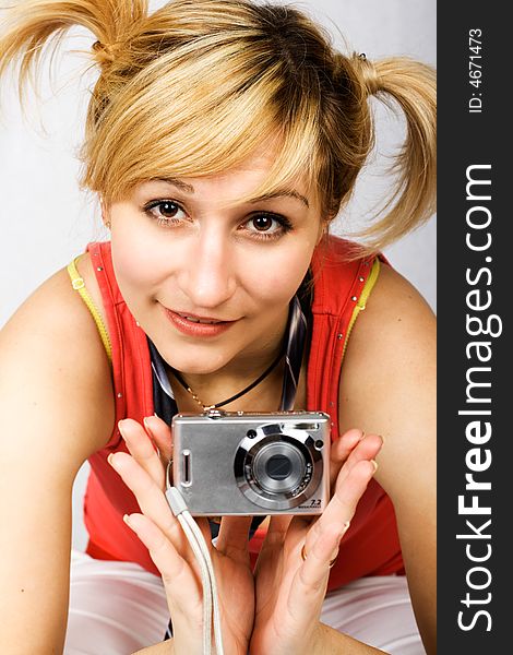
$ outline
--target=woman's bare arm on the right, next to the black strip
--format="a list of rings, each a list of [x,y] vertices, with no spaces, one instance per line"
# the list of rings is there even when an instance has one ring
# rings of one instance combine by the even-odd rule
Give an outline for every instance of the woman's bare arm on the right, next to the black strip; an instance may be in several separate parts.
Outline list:
[[[341,378],[341,432],[384,439],[377,480],[391,497],[415,616],[436,653],[434,317],[399,274],[382,266],[348,343]]]

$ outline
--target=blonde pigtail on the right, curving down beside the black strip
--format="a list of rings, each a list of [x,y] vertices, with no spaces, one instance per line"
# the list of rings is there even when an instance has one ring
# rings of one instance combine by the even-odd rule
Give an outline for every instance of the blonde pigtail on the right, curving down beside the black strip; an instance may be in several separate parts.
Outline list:
[[[386,214],[359,233],[367,246],[381,250],[426,222],[434,212],[437,186],[436,73],[407,58],[371,62],[354,55],[353,63],[367,96],[386,105],[395,100],[406,117],[406,140],[391,172],[397,184]]]

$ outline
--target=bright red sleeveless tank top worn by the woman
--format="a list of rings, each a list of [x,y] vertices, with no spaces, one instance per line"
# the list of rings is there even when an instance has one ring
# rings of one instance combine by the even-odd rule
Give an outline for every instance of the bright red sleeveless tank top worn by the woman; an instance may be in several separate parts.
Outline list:
[[[312,260],[313,327],[307,373],[307,407],[332,417],[332,439],[338,436],[338,380],[344,344],[355,305],[369,276],[372,261],[347,262],[351,243],[330,237]],[[117,428],[123,418],[140,422],[154,414],[150,352],[146,335],[136,324],[116,282],[110,242],[87,246],[107,315],[112,346],[112,382],[116,400],[115,429],[107,445],[90,457],[91,474],[84,498],[87,552],[97,559],[132,561],[158,571],[146,548],[123,523],[123,514],[139,512],[132,492],[107,462],[111,452],[126,451]],[[264,531],[250,541],[256,558]],[[403,573],[392,502],[371,480],[360,499],[350,528],[331,570],[329,590],[363,575]]]

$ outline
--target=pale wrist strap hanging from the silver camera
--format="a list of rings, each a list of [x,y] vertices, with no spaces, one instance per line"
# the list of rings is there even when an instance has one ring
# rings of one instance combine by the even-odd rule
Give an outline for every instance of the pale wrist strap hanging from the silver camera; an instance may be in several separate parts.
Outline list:
[[[180,491],[176,487],[168,487],[166,490],[166,498],[172,513],[180,522],[180,525],[182,526],[194,556],[200,564],[201,580],[203,585],[203,654],[211,655],[212,615],[214,615],[214,639],[216,655],[224,655],[217,585],[208,547],[201,529],[187,509],[186,501],[183,500]]]

